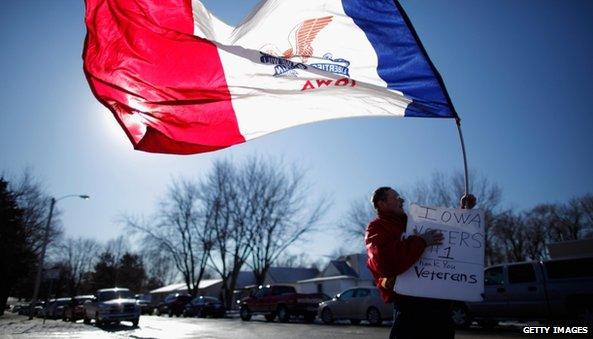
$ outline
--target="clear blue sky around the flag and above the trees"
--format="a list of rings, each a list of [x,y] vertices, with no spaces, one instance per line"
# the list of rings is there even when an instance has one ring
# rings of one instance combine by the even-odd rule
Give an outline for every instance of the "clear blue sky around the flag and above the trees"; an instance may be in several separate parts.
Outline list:
[[[237,24],[256,1],[209,0]],[[593,2],[402,0],[462,118],[469,165],[529,208],[593,192]],[[462,169],[451,120],[366,118],[288,129],[223,151],[134,151],[82,71],[84,2],[20,0],[0,10],[0,171],[29,166],[64,200],[67,236],[107,240],[122,212],[149,214],[171,178],[199,178],[213,160],[259,154],[308,168],[314,195],[333,197],[321,230],[295,253],[344,246],[331,228],[379,185],[411,187]]]

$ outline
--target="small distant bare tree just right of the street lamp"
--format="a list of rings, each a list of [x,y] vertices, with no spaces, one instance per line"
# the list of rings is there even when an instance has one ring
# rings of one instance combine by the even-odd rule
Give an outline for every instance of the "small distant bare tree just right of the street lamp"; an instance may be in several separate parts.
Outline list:
[[[85,275],[92,271],[101,248],[94,239],[68,238],[60,246],[60,261],[69,272],[68,289],[70,295],[80,292]]]

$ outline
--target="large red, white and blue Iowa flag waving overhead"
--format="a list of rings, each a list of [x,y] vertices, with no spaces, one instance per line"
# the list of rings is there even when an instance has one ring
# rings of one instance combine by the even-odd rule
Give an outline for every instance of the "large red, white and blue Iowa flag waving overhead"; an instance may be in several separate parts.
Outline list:
[[[86,26],[91,89],[143,151],[337,118],[457,117],[390,0],[265,0],[237,27],[198,0],[86,0]]]

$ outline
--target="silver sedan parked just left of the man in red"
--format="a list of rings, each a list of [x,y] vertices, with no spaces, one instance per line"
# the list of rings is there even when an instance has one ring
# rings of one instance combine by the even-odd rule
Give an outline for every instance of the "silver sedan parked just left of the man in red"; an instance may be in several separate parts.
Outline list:
[[[319,304],[318,315],[326,324],[350,320],[353,325],[358,325],[361,320],[367,320],[376,326],[393,318],[393,306],[383,302],[376,287],[355,287]]]

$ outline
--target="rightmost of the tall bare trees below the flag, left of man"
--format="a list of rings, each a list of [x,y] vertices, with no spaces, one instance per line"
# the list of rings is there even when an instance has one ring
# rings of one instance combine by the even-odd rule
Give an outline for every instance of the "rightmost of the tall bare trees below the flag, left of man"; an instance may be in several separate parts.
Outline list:
[[[304,172],[287,170],[280,162],[251,158],[240,168],[237,188],[245,196],[243,219],[253,230],[249,267],[257,284],[263,284],[272,263],[312,230],[326,212],[329,200],[315,199]]]

